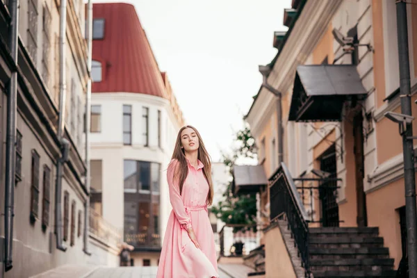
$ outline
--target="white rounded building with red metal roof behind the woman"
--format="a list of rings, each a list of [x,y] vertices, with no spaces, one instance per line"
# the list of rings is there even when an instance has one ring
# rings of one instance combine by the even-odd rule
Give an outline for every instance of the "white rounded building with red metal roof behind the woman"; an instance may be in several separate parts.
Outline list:
[[[93,15],[90,204],[135,247],[134,265],[158,265],[182,113],[135,8],[100,3]]]

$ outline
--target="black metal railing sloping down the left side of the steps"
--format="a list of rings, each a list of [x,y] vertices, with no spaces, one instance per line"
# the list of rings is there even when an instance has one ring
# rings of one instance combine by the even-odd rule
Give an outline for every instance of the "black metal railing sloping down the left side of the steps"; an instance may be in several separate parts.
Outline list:
[[[286,218],[305,270],[305,277],[310,277],[308,216],[291,174],[284,163],[281,163],[268,183],[270,186],[270,220],[275,222]]]

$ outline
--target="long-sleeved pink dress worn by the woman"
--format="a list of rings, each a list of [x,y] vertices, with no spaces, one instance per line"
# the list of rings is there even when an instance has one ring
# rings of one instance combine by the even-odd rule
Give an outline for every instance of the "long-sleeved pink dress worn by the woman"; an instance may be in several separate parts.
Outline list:
[[[172,212],[165,231],[156,277],[219,277],[213,229],[207,213],[208,183],[202,171],[203,163],[198,161],[195,169],[188,161],[188,175],[181,195],[178,182],[173,179],[177,163],[177,160],[172,160],[167,169]],[[186,230],[188,227],[193,227],[201,250],[190,240]]]

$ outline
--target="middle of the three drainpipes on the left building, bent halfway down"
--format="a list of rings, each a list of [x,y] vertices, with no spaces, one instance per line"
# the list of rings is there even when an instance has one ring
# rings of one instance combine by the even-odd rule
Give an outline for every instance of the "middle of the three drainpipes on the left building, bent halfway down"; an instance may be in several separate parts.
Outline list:
[[[56,248],[66,251],[67,247],[63,245],[63,221],[62,221],[62,182],[63,167],[66,161],[65,149],[68,142],[63,138],[64,117],[65,117],[65,99],[66,99],[66,79],[65,79],[65,47],[66,47],[66,29],[67,29],[67,0],[60,0],[60,31],[59,31],[59,115],[58,115],[58,140],[60,142],[61,156],[58,158],[56,165],[56,189],[55,189],[55,234]]]

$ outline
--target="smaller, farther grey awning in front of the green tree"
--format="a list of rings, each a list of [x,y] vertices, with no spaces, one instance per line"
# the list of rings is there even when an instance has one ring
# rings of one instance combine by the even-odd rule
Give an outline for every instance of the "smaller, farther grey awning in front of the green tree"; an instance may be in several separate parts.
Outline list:
[[[262,186],[268,184],[262,165],[235,165],[233,167],[232,192],[249,194],[259,192]]]

